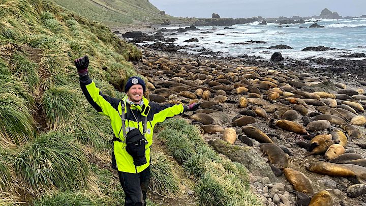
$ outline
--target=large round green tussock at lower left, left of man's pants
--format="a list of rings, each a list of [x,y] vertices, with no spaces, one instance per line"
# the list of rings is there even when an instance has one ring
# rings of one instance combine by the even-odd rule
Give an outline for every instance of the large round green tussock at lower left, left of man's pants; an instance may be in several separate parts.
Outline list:
[[[89,175],[84,152],[73,137],[63,131],[42,133],[24,146],[15,159],[14,168],[18,178],[41,193],[53,188],[85,189]]]

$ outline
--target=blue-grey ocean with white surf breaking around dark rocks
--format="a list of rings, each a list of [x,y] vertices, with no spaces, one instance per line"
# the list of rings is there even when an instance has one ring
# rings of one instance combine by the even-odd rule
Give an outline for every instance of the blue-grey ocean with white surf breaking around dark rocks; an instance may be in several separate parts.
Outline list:
[[[317,21],[318,20],[318,21]],[[324,28],[309,28],[316,23]],[[214,52],[217,56],[257,56],[269,59],[273,52],[279,51],[282,56],[295,58],[349,58],[341,57],[353,53],[366,53],[366,19],[311,19],[304,24],[279,24],[267,23],[259,25],[259,22],[250,24],[236,24],[230,26],[234,29],[224,29],[224,26],[198,26],[199,31],[188,31],[176,33],[176,36],[168,36],[172,32],[166,32],[167,38],[177,38],[176,45],[188,46],[179,51],[188,53],[201,53],[205,48]],[[287,26],[288,27],[285,27]],[[308,28],[299,28],[308,27]],[[168,27],[169,30],[179,27]],[[204,34],[202,32],[210,32]],[[218,35],[221,34],[221,35]],[[222,35],[225,34],[225,35]],[[190,38],[197,38],[199,42],[184,42]],[[243,45],[232,45],[247,41],[265,41],[267,44],[248,43]],[[223,42],[223,43],[216,43]],[[268,49],[267,47],[284,44],[292,49]],[[141,44],[142,45],[142,44]],[[301,51],[310,46],[326,46],[339,50],[329,51]],[[352,58],[364,60],[364,57]]]

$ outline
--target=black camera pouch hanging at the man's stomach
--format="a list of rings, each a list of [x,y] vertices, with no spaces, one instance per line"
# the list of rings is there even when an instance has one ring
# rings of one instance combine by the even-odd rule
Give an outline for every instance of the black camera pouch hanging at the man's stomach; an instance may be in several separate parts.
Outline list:
[[[132,156],[135,166],[147,163],[145,156],[145,138],[140,130],[133,129],[126,135],[126,151]]]

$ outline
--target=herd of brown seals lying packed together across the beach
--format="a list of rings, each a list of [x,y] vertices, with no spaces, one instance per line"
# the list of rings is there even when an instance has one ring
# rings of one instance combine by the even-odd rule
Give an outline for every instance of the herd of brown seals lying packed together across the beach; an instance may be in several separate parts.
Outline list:
[[[293,204],[299,194],[308,196],[310,205],[333,205],[333,198],[363,201],[344,199],[331,192],[334,188],[322,191],[312,182],[320,175],[342,180],[345,195],[353,183],[340,177],[366,183],[366,159],[355,154],[364,154],[356,145],[365,141],[363,85],[348,88],[325,75],[295,72],[283,64],[256,66],[240,58],[168,57],[148,50],[144,55],[135,68],[149,81],[146,96],[162,103],[200,103],[201,109],[186,117],[207,142],[221,138],[267,155],[276,176],[296,191]]]

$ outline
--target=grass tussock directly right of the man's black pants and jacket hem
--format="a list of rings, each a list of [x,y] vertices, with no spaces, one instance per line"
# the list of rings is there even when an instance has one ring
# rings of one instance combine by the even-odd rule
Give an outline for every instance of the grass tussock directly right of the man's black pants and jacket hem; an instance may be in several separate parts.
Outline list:
[[[151,153],[150,190],[161,196],[176,198],[181,191],[173,163],[162,152]]]

